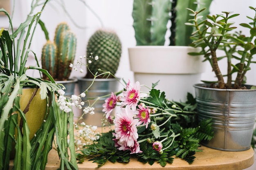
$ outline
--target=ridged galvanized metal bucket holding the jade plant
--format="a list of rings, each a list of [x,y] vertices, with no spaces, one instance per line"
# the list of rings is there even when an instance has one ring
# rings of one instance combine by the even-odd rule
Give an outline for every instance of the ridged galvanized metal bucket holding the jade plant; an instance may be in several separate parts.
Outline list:
[[[207,88],[195,84],[199,120],[212,118],[214,138],[202,144],[227,151],[250,148],[256,116],[256,90]]]

